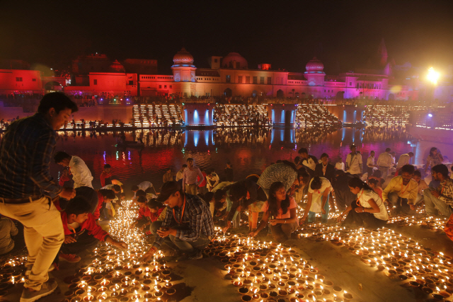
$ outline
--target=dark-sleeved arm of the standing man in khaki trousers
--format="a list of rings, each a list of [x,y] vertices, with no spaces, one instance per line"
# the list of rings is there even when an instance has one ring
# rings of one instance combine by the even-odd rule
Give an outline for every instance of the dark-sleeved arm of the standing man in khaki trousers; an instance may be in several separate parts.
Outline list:
[[[52,178],[49,168],[55,144],[57,144],[55,136],[51,133],[43,134],[35,141],[35,147],[30,158],[30,178],[42,190],[58,194],[62,191],[62,187]]]

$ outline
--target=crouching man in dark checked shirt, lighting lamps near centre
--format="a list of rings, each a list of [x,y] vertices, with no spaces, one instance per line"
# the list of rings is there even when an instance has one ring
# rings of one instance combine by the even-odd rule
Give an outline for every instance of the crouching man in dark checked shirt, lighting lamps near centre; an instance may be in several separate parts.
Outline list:
[[[183,252],[185,259],[201,259],[202,250],[214,238],[214,223],[205,202],[200,197],[185,194],[176,181],[164,183],[157,201],[166,204],[166,215],[164,221],[151,223],[156,239],[143,261],[151,260],[162,243],[173,249],[173,255]]]

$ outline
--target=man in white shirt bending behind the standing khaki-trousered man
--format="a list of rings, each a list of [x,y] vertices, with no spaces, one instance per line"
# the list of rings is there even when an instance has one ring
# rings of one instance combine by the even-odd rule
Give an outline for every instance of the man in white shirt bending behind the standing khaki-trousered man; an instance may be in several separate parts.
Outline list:
[[[66,152],[58,151],[54,156],[55,163],[64,167],[69,167],[69,172],[72,174],[72,180],[74,180],[74,189],[78,187],[91,187],[91,181],[93,175],[91,175],[90,169],[86,166],[84,160],[79,156],[71,156]]]

